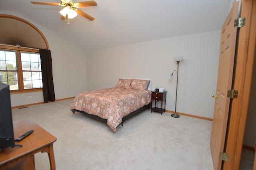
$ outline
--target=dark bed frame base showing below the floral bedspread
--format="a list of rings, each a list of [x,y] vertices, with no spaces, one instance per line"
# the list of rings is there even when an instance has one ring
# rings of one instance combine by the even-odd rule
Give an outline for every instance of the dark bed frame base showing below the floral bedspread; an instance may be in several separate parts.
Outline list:
[[[151,106],[151,103],[149,103],[148,105],[145,105],[145,106],[141,107],[140,109],[138,109],[138,110],[136,110],[136,111],[133,111],[133,112],[130,113],[129,115],[126,115],[125,117],[123,117],[123,118],[122,118],[122,126],[123,126],[123,123],[124,123],[124,121],[125,121],[126,119],[129,119],[130,117],[132,117],[132,116],[134,116],[134,115],[136,115],[136,114],[138,114],[138,113],[144,111],[146,108],[148,108],[148,110],[149,110],[149,109],[150,109],[150,106]],[[89,113],[86,113],[86,112],[84,112],[84,111],[78,111],[78,110],[72,109],[73,114],[74,114],[76,111],[79,112],[79,113],[82,113],[82,114],[86,115],[87,117],[91,117],[91,118],[93,118],[93,119],[97,119],[97,120],[99,120],[99,121],[102,121],[102,122],[107,123],[107,119],[102,119],[101,117],[98,117],[98,116],[96,116],[96,115],[90,115]]]

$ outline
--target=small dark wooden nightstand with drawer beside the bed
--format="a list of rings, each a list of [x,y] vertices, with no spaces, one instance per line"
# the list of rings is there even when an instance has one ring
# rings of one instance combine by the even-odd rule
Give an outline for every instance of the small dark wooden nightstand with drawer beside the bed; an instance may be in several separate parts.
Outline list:
[[[159,92],[159,91],[151,91],[151,113],[152,111],[160,112],[161,115],[165,112],[165,103],[166,103],[166,92]],[[155,100],[155,106],[153,108],[153,100]],[[161,101],[161,108],[156,107],[156,101]],[[164,109],[163,109],[163,101],[164,101]]]

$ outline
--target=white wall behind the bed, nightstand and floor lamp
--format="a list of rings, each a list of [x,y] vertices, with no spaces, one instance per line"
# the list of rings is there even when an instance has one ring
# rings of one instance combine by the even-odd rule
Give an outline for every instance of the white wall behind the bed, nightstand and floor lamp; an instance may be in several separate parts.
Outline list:
[[[177,112],[213,118],[219,48],[220,31],[214,31],[90,51],[88,90],[114,87],[119,78],[151,79],[152,89],[166,89],[166,109],[174,111],[176,74],[167,77],[177,69],[173,57],[183,55]]]

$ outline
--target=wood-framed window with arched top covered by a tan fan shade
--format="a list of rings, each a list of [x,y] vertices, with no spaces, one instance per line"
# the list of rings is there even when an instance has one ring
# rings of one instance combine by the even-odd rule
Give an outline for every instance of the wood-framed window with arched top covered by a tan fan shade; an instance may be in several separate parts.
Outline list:
[[[11,93],[42,91],[39,49],[49,49],[46,38],[30,22],[0,14],[0,82]]]

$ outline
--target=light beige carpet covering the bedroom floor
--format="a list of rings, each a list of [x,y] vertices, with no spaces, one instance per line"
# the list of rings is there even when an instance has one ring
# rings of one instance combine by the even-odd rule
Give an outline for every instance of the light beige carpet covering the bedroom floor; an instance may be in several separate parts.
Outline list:
[[[13,121],[31,119],[53,134],[57,170],[212,170],[212,122],[170,113],[142,113],[116,132],[70,111],[73,99],[13,109]],[[37,170],[49,170],[46,153]]]

